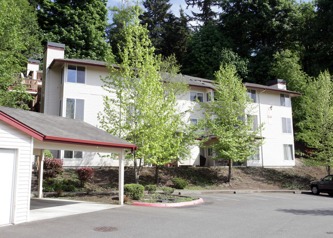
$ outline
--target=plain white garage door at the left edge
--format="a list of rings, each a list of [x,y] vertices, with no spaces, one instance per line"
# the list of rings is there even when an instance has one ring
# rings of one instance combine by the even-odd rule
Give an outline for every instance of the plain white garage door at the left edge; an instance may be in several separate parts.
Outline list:
[[[0,149],[0,225],[11,223],[14,189],[15,149]]]

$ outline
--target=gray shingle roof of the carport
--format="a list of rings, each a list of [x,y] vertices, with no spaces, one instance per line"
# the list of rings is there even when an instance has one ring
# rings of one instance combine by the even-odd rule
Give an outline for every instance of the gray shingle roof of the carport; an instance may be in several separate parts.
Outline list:
[[[81,120],[11,109],[4,106],[0,106],[0,112],[23,123],[45,137],[66,138],[74,142],[75,140],[79,140],[81,143],[89,141],[90,143],[96,142],[95,144],[102,142],[107,144],[120,144],[129,148],[135,147],[135,145],[130,142],[113,136]]]

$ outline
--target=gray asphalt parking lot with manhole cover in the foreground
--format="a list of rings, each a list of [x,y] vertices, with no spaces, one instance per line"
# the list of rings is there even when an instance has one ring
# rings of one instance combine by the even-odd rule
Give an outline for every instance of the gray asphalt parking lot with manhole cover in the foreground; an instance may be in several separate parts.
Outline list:
[[[197,197],[205,202],[170,208],[122,206],[4,226],[0,237],[333,237],[333,197],[326,194]],[[115,229],[102,232],[98,227]]]

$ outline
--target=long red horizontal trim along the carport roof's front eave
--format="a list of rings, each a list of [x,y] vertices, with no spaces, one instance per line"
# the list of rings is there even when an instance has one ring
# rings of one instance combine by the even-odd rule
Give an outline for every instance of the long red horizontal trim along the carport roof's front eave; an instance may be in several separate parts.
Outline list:
[[[127,144],[118,144],[118,143],[110,143],[110,142],[101,142],[101,141],[89,141],[89,140],[80,140],[80,139],[71,139],[71,138],[63,138],[63,137],[55,137],[55,136],[45,136],[43,142],[55,142],[55,143],[64,143],[67,144],[76,144],[76,145],[89,145],[89,146],[101,146],[101,147],[114,147],[114,148],[129,148],[133,150],[137,150],[136,145],[127,145]]]

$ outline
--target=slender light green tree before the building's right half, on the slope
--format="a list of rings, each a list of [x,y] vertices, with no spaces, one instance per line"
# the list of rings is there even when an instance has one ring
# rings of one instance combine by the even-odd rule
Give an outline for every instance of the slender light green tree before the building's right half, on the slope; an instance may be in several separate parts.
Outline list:
[[[234,66],[223,66],[215,73],[215,96],[210,103],[202,103],[206,110],[206,124],[209,137],[207,147],[213,149],[213,159],[228,160],[228,182],[231,181],[232,162],[245,161],[257,153],[259,130],[253,127],[255,110],[247,90]]]

